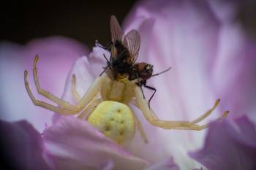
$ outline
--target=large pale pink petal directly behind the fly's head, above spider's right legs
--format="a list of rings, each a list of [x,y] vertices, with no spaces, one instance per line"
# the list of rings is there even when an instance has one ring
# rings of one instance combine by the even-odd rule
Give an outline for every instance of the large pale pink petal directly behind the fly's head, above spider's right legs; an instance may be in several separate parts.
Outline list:
[[[148,81],[161,87],[152,101],[158,115],[189,119],[208,109],[217,99],[209,74],[219,34],[208,4],[143,1],[131,15],[125,28],[140,32],[139,60],[154,64],[154,72],[172,66],[170,72]]]

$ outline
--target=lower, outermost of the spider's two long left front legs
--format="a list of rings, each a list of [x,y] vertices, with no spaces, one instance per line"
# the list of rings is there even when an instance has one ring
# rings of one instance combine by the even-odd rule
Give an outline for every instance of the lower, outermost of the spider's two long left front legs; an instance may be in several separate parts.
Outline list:
[[[77,112],[72,111],[72,110],[61,109],[59,107],[48,104],[44,101],[36,100],[36,98],[34,98],[34,95],[31,93],[31,90],[29,88],[29,82],[27,81],[27,77],[28,77],[28,71],[25,70],[25,72],[24,72],[24,82],[25,82],[26,90],[29,93],[29,97],[31,98],[31,101],[33,101],[34,105],[39,106],[39,107],[43,107],[43,108],[51,110],[53,112],[58,112],[58,113],[63,114],[63,115],[75,115],[77,113]]]

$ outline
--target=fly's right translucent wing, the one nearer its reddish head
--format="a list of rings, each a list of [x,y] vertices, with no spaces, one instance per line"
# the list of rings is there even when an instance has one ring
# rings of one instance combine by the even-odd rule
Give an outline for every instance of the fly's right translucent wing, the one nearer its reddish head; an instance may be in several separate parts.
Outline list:
[[[128,48],[130,53],[130,62],[133,64],[138,58],[140,50],[140,34],[136,30],[129,31],[124,36],[124,45]]]

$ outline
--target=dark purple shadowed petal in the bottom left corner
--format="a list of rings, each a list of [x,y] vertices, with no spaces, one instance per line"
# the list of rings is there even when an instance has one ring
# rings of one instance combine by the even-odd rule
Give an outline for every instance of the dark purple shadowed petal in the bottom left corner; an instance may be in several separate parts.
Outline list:
[[[50,155],[41,135],[25,120],[8,123],[0,120],[1,154],[7,169],[50,170]],[[1,165],[3,166],[3,165]],[[1,167],[3,168],[3,167]]]

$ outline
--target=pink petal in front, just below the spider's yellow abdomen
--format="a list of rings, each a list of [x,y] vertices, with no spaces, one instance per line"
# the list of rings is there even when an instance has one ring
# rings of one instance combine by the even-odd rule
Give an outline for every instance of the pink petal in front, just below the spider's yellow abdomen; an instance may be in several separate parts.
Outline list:
[[[148,164],[75,117],[61,117],[44,131],[44,140],[61,170],[95,169],[110,160],[114,169],[142,169]]]

